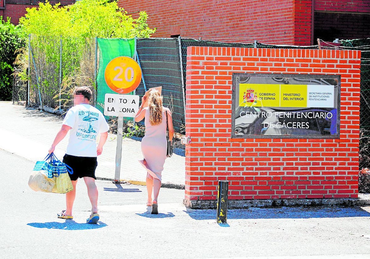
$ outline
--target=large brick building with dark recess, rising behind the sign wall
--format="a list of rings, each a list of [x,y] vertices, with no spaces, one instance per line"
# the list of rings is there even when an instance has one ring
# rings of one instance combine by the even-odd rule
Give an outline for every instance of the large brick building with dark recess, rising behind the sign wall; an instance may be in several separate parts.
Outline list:
[[[147,11],[153,37],[309,46],[316,39],[370,37],[370,0],[118,0]]]

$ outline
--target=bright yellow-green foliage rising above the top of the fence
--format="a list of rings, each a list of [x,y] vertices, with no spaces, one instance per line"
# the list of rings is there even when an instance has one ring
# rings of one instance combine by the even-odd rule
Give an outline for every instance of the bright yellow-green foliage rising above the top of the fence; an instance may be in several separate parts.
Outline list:
[[[147,24],[145,11],[137,19],[127,15],[116,1],[81,0],[69,6],[40,2],[21,17],[27,34],[85,38],[149,37],[155,32]]]

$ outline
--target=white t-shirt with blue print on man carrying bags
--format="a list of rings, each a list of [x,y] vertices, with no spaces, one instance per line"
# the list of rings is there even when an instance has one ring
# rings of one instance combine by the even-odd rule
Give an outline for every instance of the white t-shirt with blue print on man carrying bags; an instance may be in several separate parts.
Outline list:
[[[97,108],[90,104],[78,104],[68,110],[63,124],[71,127],[66,154],[97,157],[97,136],[109,130],[104,115]]]

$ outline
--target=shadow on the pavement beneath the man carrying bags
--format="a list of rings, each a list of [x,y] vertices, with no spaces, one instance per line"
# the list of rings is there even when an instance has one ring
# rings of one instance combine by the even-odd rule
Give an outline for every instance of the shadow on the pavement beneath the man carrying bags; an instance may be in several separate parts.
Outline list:
[[[87,223],[76,223],[71,219],[66,219],[65,222],[45,222],[45,223],[28,223],[28,226],[33,226],[35,228],[48,228],[48,229],[64,229],[64,230],[84,230],[84,229],[96,229],[103,228],[107,224],[98,221],[97,224],[87,224]]]

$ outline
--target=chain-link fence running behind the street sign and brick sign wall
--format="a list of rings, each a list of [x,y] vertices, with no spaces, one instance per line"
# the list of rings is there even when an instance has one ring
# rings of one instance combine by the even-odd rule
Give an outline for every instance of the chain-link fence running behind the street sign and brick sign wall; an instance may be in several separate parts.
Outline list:
[[[104,39],[98,39],[104,40]],[[110,39],[114,40],[114,39]],[[124,39],[116,39],[124,40]],[[128,40],[125,40],[128,41]],[[133,41],[133,39],[131,39]],[[21,64],[15,70],[13,100],[24,101],[28,105],[46,105],[51,108],[68,110],[71,105],[70,90],[76,86],[89,85],[95,96],[104,96],[106,87],[96,78],[100,55],[96,39],[91,38],[47,38],[30,37],[29,82]],[[370,167],[370,39],[343,40],[342,47],[321,46],[321,48],[344,48],[361,50],[361,102],[360,102],[360,168]],[[120,43],[117,43],[120,44]],[[253,43],[224,43],[194,38],[136,38],[134,57],[142,69],[142,81],[135,94],[142,97],[152,87],[162,86],[164,105],[172,110],[175,131],[185,132],[185,90],[186,57],[189,46],[199,47],[242,47],[242,48],[303,48],[319,49],[315,46],[286,46]],[[28,49],[23,55],[27,56]],[[108,51],[103,49],[103,51]],[[61,62],[60,62],[61,61]],[[21,68],[23,67],[23,69]],[[102,68],[101,68],[102,69]],[[17,72],[19,72],[17,74]],[[103,80],[104,81],[104,80]],[[97,87],[95,87],[97,85]],[[95,91],[96,90],[96,91]],[[27,100],[28,98],[28,100]],[[95,105],[95,103],[94,103]],[[99,105],[98,105],[99,106]],[[98,107],[97,106],[97,107]],[[102,109],[102,107],[100,107]]]

